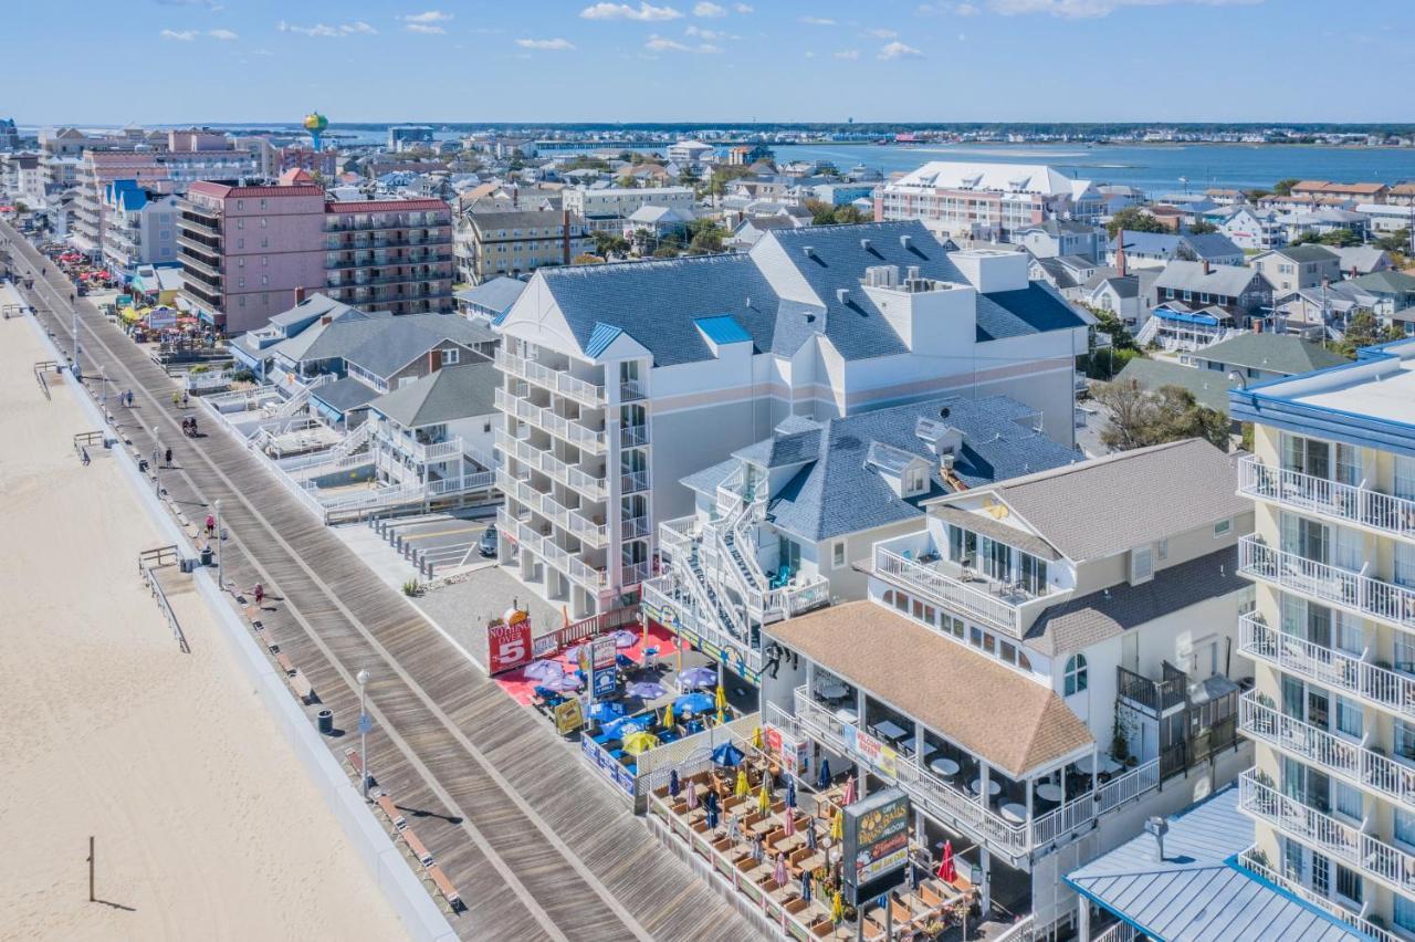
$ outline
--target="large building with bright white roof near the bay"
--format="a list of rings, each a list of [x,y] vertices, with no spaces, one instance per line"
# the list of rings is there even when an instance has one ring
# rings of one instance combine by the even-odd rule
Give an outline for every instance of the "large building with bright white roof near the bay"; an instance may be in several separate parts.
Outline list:
[[[1101,194],[1043,164],[974,164],[935,160],[887,182],[876,219],[921,219],[934,232],[990,242],[1047,219],[1097,222]]]

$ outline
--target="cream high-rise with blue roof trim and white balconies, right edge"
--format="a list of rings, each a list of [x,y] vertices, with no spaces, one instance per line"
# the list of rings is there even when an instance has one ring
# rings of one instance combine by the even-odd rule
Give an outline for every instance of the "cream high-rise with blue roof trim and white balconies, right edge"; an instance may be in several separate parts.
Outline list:
[[[1415,341],[1234,390],[1257,665],[1245,863],[1381,939],[1415,938]]]

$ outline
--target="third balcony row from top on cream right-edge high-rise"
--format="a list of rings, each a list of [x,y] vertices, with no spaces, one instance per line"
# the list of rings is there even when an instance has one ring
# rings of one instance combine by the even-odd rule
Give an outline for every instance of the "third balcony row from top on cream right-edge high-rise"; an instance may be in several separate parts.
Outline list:
[[[1360,697],[1402,716],[1415,716],[1412,675],[1283,634],[1254,615],[1238,620],[1238,649],[1255,661],[1315,680],[1339,693]]]

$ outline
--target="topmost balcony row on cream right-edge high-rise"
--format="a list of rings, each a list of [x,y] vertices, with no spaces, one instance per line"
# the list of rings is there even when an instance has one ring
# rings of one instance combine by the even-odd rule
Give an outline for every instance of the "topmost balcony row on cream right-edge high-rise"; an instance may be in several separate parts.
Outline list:
[[[1271,468],[1254,457],[1238,463],[1238,494],[1299,513],[1354,523],[1382,536],[1415,540],[1415,501]]]

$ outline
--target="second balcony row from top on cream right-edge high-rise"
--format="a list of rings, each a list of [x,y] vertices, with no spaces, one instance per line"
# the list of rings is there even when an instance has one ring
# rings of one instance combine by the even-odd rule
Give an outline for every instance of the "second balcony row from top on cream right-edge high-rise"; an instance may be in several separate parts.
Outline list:
[[[1255,536],[1238,542],[1238,571],[1363,618],[1415,628],[1415,590],[1274,549]]]

